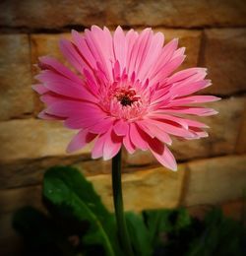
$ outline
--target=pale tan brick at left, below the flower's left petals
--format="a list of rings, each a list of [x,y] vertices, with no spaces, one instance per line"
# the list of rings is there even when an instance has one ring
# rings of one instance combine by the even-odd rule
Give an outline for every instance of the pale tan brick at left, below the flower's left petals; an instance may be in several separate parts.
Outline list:
[[[0,123],[0,162],[68,156],[65,152],[76,131],[60,122],[36,119],[11,120]],[[91,146],[76,153],[89,154]]]

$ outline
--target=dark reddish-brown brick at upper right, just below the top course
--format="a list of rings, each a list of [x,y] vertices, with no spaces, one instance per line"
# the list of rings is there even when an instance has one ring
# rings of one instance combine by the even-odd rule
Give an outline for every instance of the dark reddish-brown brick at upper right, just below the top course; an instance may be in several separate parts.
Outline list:
[[[214,86],[204,93],[232,95],[246,91],[246,30],[205,31],[201,65],[209,69]]]

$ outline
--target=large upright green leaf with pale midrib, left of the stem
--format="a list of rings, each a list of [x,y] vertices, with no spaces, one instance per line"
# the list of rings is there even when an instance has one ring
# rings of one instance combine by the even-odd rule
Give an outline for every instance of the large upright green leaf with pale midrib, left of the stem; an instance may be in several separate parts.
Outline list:
[[[75,219],[78,224],[89,224],[82,238],[85,246],[100,245],[107,256],[121,255],[114,216],[106,210],[92,184],[77,169],[56,166],[47,170],[43,197],[63,221]]]

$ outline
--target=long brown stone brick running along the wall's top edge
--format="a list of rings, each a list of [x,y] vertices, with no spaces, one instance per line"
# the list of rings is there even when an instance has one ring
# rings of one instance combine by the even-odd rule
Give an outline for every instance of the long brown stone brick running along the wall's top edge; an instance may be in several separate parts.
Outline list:
[[[68,26],[124,25],[172,28],[246,25],[243,0],[181,1],[2,1],[0,25],[60,29]]]

